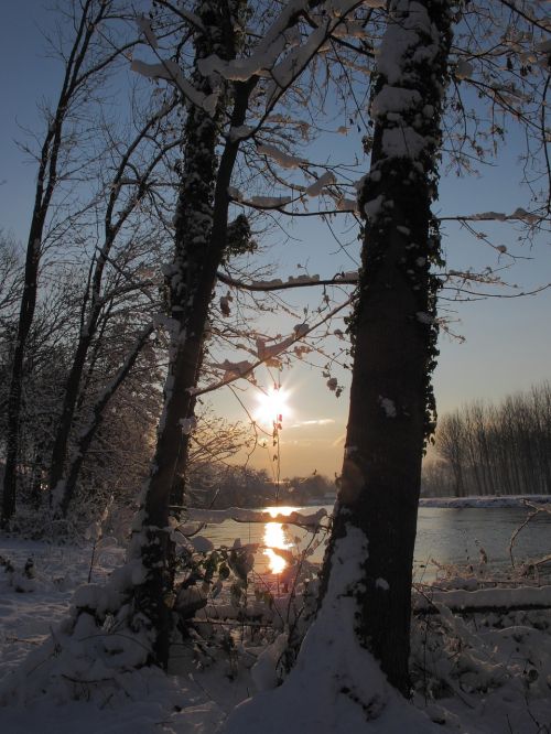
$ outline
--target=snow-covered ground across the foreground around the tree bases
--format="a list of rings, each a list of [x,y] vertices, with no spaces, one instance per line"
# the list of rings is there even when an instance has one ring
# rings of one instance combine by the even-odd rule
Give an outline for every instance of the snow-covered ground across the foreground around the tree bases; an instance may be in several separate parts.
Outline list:
[[[338,687],[334,689],[334,701],[331,687],[324,689],[321,700],[322,691],[316,687],[322,684],[323,676],[317,668],[309,670],[311,659],[302,669],[298,667],[282,688],[270,690],[278,680],[276,663],[284,637],[276,636],[273,646],[268,647],[272,639],[268,627],[258,628],[251,637],[245,627],[228,625],[229,644],[218,649],[203,645],[198,637],[182,640],[174,647],[168,677],[142,670],[128,672],[117,688],[109,680],[76,686],[79,700],[67,703],[62,697],[62,704],[55,695],[41,697],[40,690],[34,690],[32,700],[25,698],[26,680],[40,680],[41,666],[47,668],[47,659],[56,655],[55,644],[44,643],[52,633],[55,640],[73,591],[87,581],[91,551],[89,547],[56,547],[0,536],[0,555],[13,566],[0,569],[2,734],[214,734],[225,725],[234,708],[256,693],[257,688],[263,689],[258,701],[262,702],[260,711],[266,713],[252,720],[249,716],[253,723],[237,730],[231,725],[228,731],[259,734],[270,724],[270,732],[332,734],[336,731],[334,724],[317,715],[316,706],[322,713],[333,705],[335,711],[341,706],[346,721],[361,721],[358,706],[350,697],[338,694]],[[24,573],[30,558],[33,569],[28,575],[34,575],[32,579]],[[96,557],[91,580],[101,583],[122,559],[123,549],[107,543]],[[469,591],[479,585],[485,586],[483,592]],[[499,584],[478,584],[473,579],[463,586],[451,591],[450,585],[442,584],[445,591],[423,587],[417,592],[412,636],[414,705],[389,692],[377,667],[367,658],[360,660],[367,671],[365,686],[378,693],[380,706],[380,712],[371,712],[374,719],[361,731],[551,732],[551,611],[518,608],[523,604],[547,607],[551,590],[534,590],[526,580],[519,581],[511,592]],[[509,604],[515,605],[515,611],[507,613],[503,607]],[[479,611],[456,613],[462,605]],[[328,663],[326,672],[331,678],[333,658],[323,654],[327,644],[324,634],[314,630],[307,645],[320,646],[320,665],[324,660]],[[21,677],[21,663],[29,654],[32,658]],[[13,687],[11,681],[18,676],[20,683]],[[325,686],[327,678],[322,682]],[[289,706],[298,706],[301,701],[301,715],[295,711],[291,717]],[[415,708],[421,712],[415,712]],[[263,721],[262,716],[268,715],[270,721]],[[234,721],[239,722],[239,716]],[[242,721],[248,721],[246,715]],[[312,723],[310,728],[307,721]]]

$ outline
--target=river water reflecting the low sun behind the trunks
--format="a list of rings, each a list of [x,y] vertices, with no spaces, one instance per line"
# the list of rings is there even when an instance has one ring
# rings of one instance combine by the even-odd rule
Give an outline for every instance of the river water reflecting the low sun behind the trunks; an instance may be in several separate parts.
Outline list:
[[[284,508],[279,508],[282,509]],[[320,506],[304,509],[315,511]],[[331,512],[333,508],[325,506],[325,509]],[[420,508],[414,580],[434,581],[439,570],[433,561],[442,565],[473,564],[477,568],[480,562],[480,551],[484,551],[487,558],[488,570],[507,572],[511,568],[509,557],[511,536],[526,517],[527,510],[517,507]],[[311,533],[294,526],[233,520],[207,526],[203,535],[213,541],[215,547],[231,547],[236,539],[240,539],[241,544],[258,543],[260,548],[256,554],[255,569],[259,573],[267,571],[280,573],[285,566],[285,561],[278,555],[278,549],[298,554],[312,538]],[[324,549],[325,546],[321,543],[309,560],[314,563],[321,562]],[[389,549],[390,552],[391,550]],[[517,565],[529,559],[540,559],[551,553],[551,515],[547,512],[539,515],[521,530],[516,539],[514,553]]]

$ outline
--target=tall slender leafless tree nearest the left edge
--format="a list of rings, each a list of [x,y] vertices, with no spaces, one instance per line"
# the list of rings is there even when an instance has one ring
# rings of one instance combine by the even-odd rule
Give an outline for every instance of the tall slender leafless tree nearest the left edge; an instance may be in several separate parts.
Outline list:
[[[67,3],[63,11],[66,18],[60,23],[57,35],[51,40],[52,50],[63,65],[60,96],[52,108],[44,109],[45,131],[39,143],[40,150],[33,153],[37,164],[36,186],[8,396],[2,495],[4,525],[15,509],[24,359],[36,307],[41,260],[47,246],[45,234],[50,229],[50,236],[55,237],[56,228],[63,229],[60,222],[48,225],[51,207],[57,192],[65,184],[71,186],[83,165],[87,117],[98,85],[111,65],[132,45],[130,41],[114,43],[110,35],[109,22],[120,19],[120,6],[116,0],[85,0],[78,6]],[[67,36],[66,29],[72,29]]]

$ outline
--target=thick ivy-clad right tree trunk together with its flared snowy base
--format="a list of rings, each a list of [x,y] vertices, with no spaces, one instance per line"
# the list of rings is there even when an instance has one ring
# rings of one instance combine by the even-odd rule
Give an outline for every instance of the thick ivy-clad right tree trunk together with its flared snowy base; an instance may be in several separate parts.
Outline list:
[[[283,686],[240,705],[224,734],[276,734],[281,711],[305,734],[434,731],[398,691],[410,693],[413,547],[434,418],[431,203],[451,22],[446,0],[389,4],[359,192],[366,222],[346,453],[320,605]]]

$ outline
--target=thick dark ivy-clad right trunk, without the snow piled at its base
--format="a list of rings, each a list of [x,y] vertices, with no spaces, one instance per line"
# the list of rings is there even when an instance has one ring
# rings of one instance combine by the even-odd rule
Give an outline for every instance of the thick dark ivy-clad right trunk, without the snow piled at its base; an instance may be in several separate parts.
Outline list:
[[[443,0],[392,0],[371,101],[370,172],[359,193],[363,269],[333,546],[358,529],[367,552],[357,635],[408,694],[411,574],[421,460],[433,428],[440,117],[451,43]],[[325,585],[334,566],[328,553]]]

